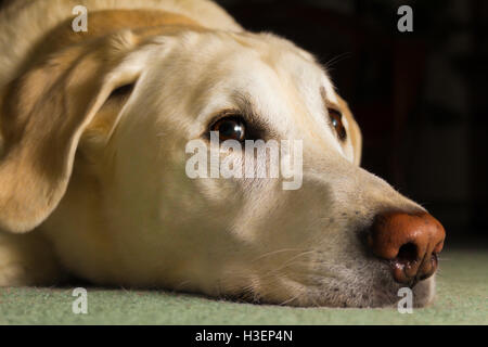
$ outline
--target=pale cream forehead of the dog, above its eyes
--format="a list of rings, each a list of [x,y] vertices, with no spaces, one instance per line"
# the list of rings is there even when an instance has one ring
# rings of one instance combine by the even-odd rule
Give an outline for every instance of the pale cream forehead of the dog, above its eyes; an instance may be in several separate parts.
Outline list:
[[[164,54],[169,46],[162,39],[159,57],[149,64],[144,99],[184,106],[178,119],[184,114],[192,121],[190,137],[219,112],[243,108],[282,134],[311,125],[329,129],[323,97],[337,103],[334,87],[313,56],[292,42],[270,34],[189,33],[170,44]]]

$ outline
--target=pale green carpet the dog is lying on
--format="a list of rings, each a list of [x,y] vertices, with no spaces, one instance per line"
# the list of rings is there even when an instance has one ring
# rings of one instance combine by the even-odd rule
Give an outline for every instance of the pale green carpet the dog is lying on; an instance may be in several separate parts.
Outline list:
[[[0,324],[488,324],[488,252],[448,250],[442,259],[436,303],[411,314],[101,288],[88,288],[88,314],[74,314],[70,288],[0,288]]]

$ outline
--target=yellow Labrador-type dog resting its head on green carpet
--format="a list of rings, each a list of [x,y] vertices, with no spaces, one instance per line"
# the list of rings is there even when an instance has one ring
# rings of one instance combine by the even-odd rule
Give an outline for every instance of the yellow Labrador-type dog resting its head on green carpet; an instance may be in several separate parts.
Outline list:
[[[1,286],[75,275],[330,307],[394,305],[408,286],[433,301],[442,226],[359,166],[347,103],[294,43],[207,0],[21,0],[0,48]],[[210,133],[300,141],[299,187],[189,177],[188,143]]]

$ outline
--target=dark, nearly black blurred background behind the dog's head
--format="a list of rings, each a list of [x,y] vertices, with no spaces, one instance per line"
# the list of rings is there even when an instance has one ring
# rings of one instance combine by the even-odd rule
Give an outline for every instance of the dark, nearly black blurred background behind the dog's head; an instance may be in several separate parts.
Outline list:
[[[448,243],[487,244],[488,1],[217,2],[312,52],[362,129],[361,165],[436,216]],[[412,33],[397,29],[403,4]]]

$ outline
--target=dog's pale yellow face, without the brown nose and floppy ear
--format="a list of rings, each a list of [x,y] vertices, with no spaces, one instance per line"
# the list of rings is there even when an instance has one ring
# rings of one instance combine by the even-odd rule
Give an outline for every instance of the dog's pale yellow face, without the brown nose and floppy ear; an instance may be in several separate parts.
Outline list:
[[[359,128],[309,53],[271,35],[192,31],[137,44],[123,36],[97,43],[130,49],[89,82],[103,90],[82,103],[92,115],[60,140],[75,139],[78,150],[75,158],[68,146],[60,164],[74,160],[69,187],[57,193],[53,183],[51,195],[64,198],[39,203],[44,217],[31,221],[49,216],[44,227],[59,231],[50,233],[68,268],[102,283],[264,303],[398,300],[401,285],[369,250],[368,233],[386,210],[424,209],[359,167]],[[130,88],[108,97],[121,85]],[[221,141],[300,140],[298,189],[283,189],[283,178],[189,177],[189,142],[209,153],[213,130]],[[254,157],[217,150],[235,163]],[[415,303],[433,292],[432,278],[420,282]]]

